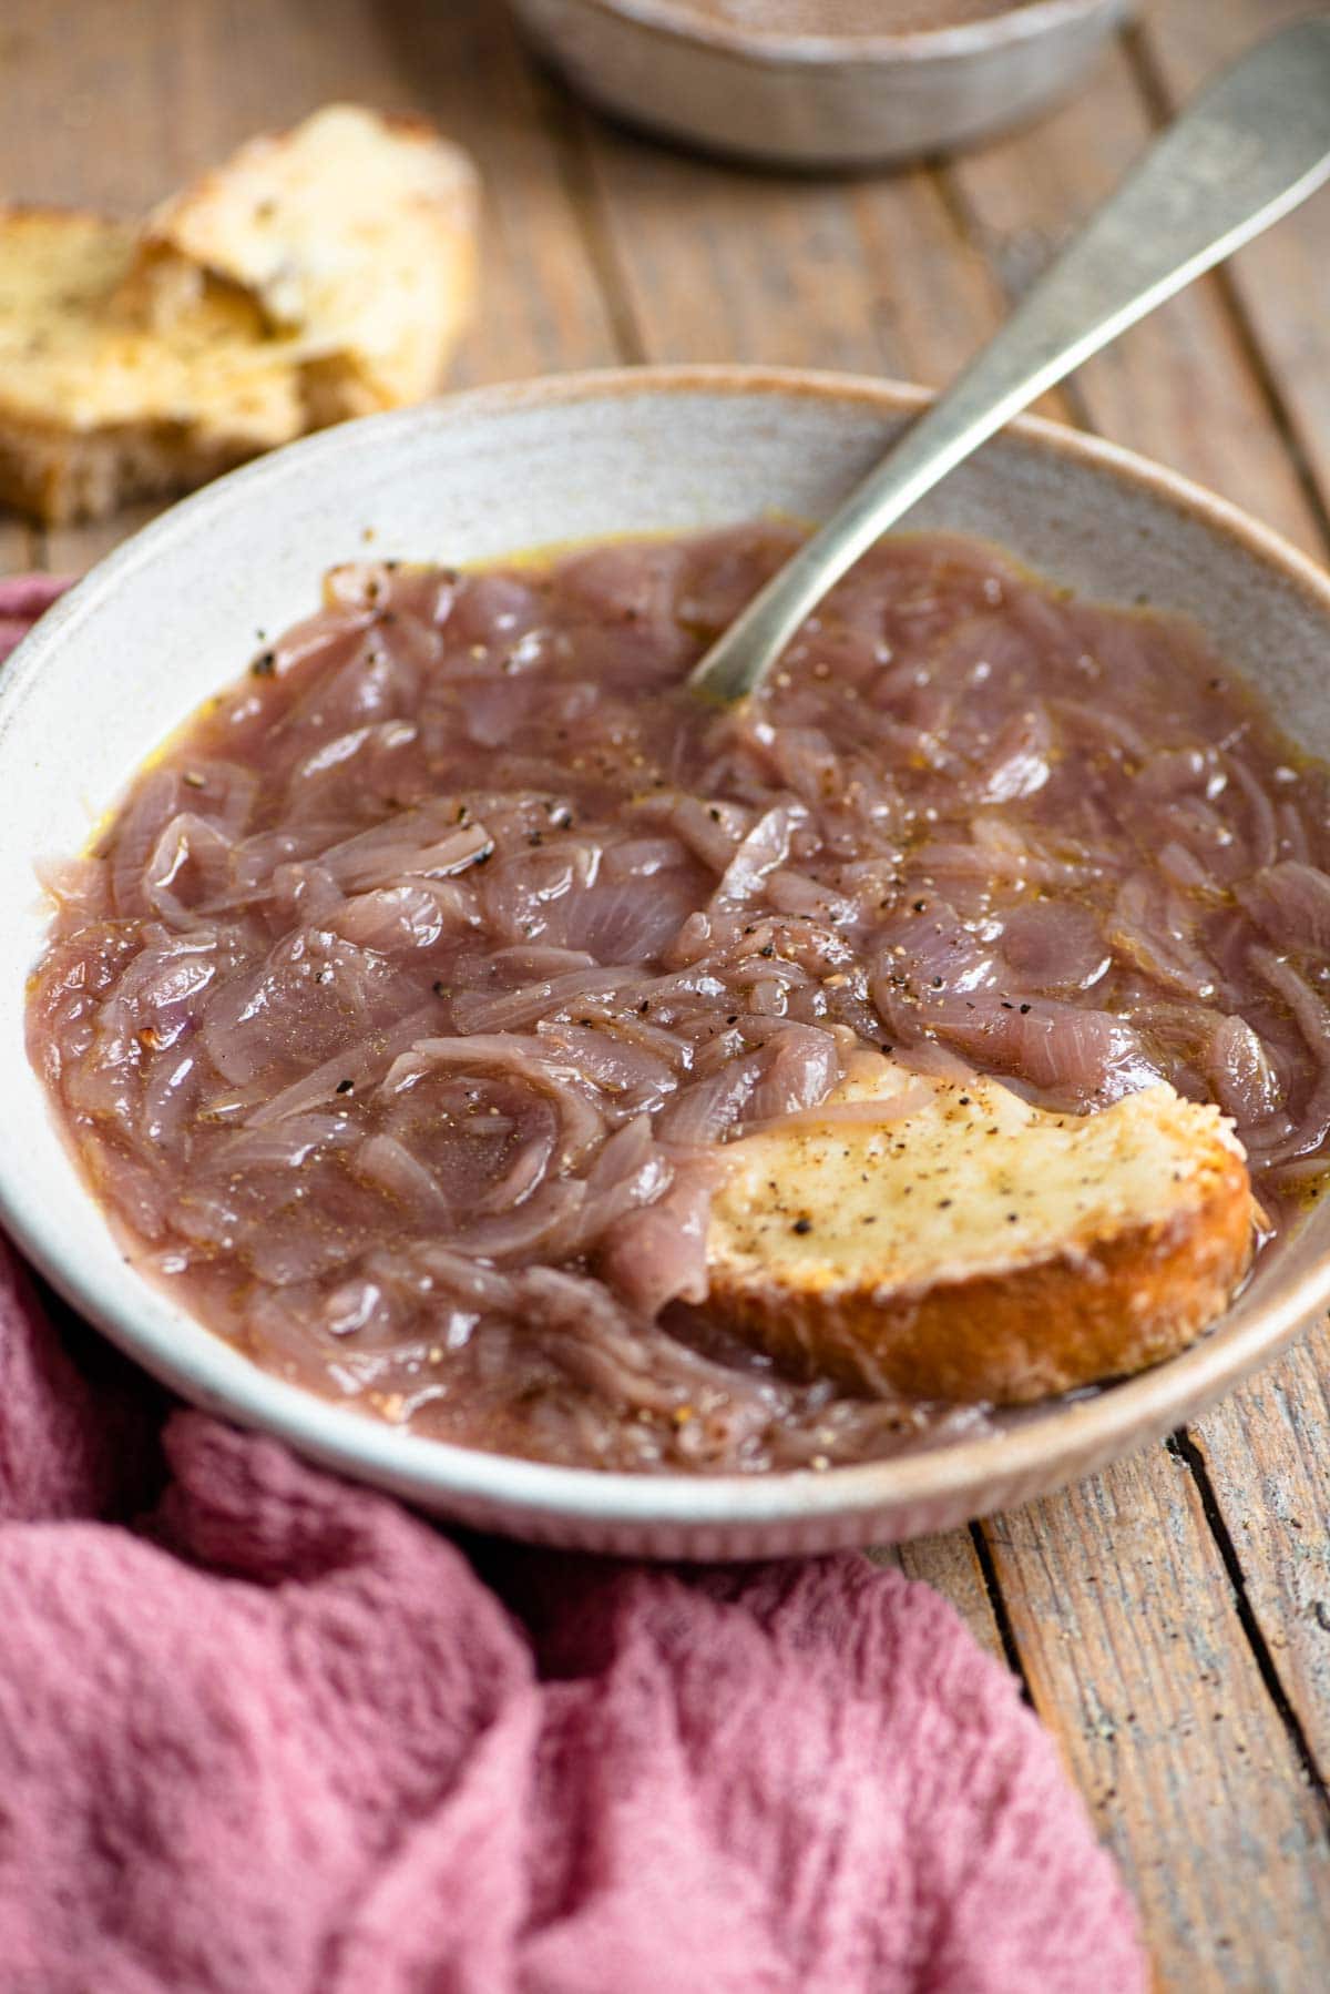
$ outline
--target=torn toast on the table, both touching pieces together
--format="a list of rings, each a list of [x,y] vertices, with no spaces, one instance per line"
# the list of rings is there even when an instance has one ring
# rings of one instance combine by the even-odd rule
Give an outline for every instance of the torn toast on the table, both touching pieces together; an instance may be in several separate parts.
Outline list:
[[[475,235],[467,156],[353,106],[253,140],[144,225],[0,207],[0,502],[102,518],[421,401]]]

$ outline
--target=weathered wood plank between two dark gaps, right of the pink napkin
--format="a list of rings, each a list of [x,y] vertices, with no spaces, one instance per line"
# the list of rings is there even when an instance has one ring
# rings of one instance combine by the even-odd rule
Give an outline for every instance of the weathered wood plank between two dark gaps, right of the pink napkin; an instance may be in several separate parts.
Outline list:
[[[1326,1984],[1330,1848],[1163,1450],[993,1519],[1035,1709],[1141,1904],[1164,1988]]]

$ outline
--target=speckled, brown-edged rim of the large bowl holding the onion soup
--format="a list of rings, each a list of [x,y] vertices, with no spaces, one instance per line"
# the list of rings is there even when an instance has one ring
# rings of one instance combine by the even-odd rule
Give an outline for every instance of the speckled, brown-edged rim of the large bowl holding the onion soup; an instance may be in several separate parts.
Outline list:
[[[839,407],[857,403],[879,417],[909,413],[927,401],[923,389],[804,369],[642,367],[479,389],[427,411],[341,425],[215,481],[100,562],[42,618],[0,676],[0,736],[22,722],[24,692],[46,658],[98,614],[102,600],[124,580],[150,568],[177,540],[205,556],[207,526],[215,516],[235,506],[261,514],[269,491],[291,479],[319,479],[325,471],[349,469],[357,459],[363,461],[365,451],[391,443],[423,419],[475,421],[532,405],[668,393],[804,395]],[[1330,576],[1278,534],[1226,500],[1117,445],[1035,417],[1021,419],[1013,429],[1049,457],[1091,465],[1105,479],[1228,536],[1274,568],[1324,618],[1330,642]],[[70,1170],[74,1172],[72,1163]],[[1053,1490],[1077,1472],[1089,1472],[1166,1432],[1180,1416],[1194,1416],[1258,1362],[1274,1356],[1330,1300],[1326,1254],[1298,1278],[1286,1278],[1240,1330],[1202,1340],[1157,1370],[999,1436],[959,1440],[935,1452],[826,1474],[782,1470],[762,1476],[632,1476],[483,1454],[403,1434],[273,1378],[209,1332],[201,1332],[181,1354],[166,1324],[142,1322],[134,1308],[108,1304],[98,1284],[84,1278],[82,1268],[70,1260],[58,1214],[26,1194],[18,1172],[0,1178],[0,1220],[54,1288],[146,1370],[193,1404],[275,1434],[331,1468],[415,1497],[427,1507],[483,1517],[491,1527],[512,1535],[586,1543],[630,1543],[640,1535],[648,1551],[652,1537],[668,1541],[666,1555],[690,1555],[692,1543],[706,1541],[742,1545],[738,1553],[726,1555],[762,1555],[764,1533],[770,1533],[776,1551],[790,1549],[796,1537],[798,1547],[871,1541],[873,1523],[879,1535],[891,1535],[891,1513],[931,1511],[959,1519],[993,1507],[995,1492],[997,1499],[1005,1499],[1023,1486]],[[136,1286],[148,1284],[140,1280]],[[861,1523],[855,1525],[855,1519]],[[782,1533],[776,1525],[790,1527]]]

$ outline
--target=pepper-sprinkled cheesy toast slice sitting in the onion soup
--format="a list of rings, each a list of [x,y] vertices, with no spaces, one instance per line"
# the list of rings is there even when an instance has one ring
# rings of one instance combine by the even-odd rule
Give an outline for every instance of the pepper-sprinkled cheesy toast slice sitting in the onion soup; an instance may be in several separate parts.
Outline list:
[[[909,1087],[909,1095],[901,1089]],[[726,1151],[708,1314],[871,1392],[1027,1404],[1172,1356],[1252,1254],[1244,1155],[1218,1109],[1157,1085],[1049,1115],[883,1061]]]

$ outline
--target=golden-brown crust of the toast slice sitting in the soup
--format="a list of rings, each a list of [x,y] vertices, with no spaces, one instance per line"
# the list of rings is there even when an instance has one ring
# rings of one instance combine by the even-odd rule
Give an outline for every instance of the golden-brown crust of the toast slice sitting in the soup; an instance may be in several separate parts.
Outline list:
[[[835,1264],[835,1240],[822,1258],[770,1264],[764,1220],[740,1232],[722,1208],[708,1314],[798,1374],[871,1394],[1023,1406],[1145,1370],[1222,1314],[1252,1256],[1256,1206],[1240,1149],[1214,1111],[1176,1103],[1170,1121],[1178,1113],[1194,1121],[1194,1164],[1166,1210],[1069,1230],[1009,1264],[967,1268],[961,1244],[949,1270],[909,1280],[893,1266],[873,1280],[871,1268]],[[907,1145],[907,1119],[897,1133]],[[1149,1139],[1147,1119],[1139,1139]],[[784,1224],[798,1190],[764,1182],[780,1194]]]

